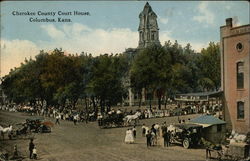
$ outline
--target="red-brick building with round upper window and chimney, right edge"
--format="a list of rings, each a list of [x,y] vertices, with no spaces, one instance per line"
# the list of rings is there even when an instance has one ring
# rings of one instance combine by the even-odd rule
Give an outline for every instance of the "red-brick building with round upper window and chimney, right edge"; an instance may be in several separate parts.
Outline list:
[[[232,18],[220,27],[221,87],[227,128],[250,131],[250,24],[234,27]]]

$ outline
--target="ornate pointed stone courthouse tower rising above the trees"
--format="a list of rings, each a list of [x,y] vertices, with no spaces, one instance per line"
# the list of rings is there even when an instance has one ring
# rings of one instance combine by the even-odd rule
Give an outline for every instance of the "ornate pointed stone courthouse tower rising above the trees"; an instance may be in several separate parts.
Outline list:
[[[160,45],[157,15],[154,13],[148,2],[145,4],[143,11],[139,15],[139,18],[140,24],[138,28],[138,48],[145,48],[152,44]]]

